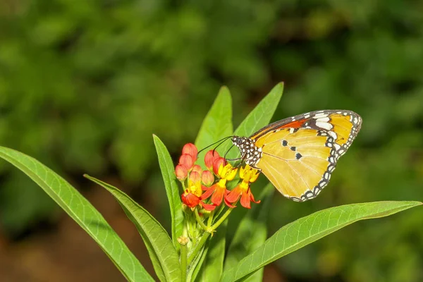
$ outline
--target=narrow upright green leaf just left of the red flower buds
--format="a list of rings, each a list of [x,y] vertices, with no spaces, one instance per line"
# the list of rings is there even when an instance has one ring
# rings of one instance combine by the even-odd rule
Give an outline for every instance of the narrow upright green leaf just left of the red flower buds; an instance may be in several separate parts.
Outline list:
[[[178,180],[176,180],[173,161],[166,146],[156,135],[153,135],[153,139],[154,145],[156,146],[157,157],[159,158],[161,176],[163,176],[164,187],[166,188],[166,195],[171,209],[172,241],[176,250],[179,250],[178,238],[182,235],[184,216],[182,203],[180,202]]]

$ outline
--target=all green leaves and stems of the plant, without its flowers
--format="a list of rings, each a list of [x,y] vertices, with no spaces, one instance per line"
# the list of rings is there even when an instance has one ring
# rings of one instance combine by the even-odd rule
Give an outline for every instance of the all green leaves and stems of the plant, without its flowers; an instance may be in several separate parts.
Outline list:
[[[235,134],[250,135],[268,124],[282,92],[283,84],[276,85],[245,118]],[[195,142],[197,147],[232,135],[231,108],[231,94],[223,87],[204,119]],[[171,207],[171,236],[146,209],[121,190],[91,176],[86,177],[102,185],[121,204],[140,232],[161,281],[215,281],[218,277],[221,281],[260,281],[266,264],[350,223],[388,216],[422,204],[410,201],[369,202],[324,209],[283,226],[266,239],[266,214],[274,190],[267,185],[259,196],[262,202],[240,221],[233,240],[227,243],[226,216],[233,208],[222,205],[210,213],[204,222],[198,209],[192,211],[186,208],[184,215],[173,161],[159,137],[154,136],[154,144]],[[228,147],[225,146],[221,147],[221,152],[226,152]],[[102,215],[66,180],[39,161],[13,149],[0,147],[0,157],[26,173],[47,192],[90,234],[128,281],[153,281]],[[223,212],[224,209],[226,212]],[[211,216],[213,213],[214,216]]]

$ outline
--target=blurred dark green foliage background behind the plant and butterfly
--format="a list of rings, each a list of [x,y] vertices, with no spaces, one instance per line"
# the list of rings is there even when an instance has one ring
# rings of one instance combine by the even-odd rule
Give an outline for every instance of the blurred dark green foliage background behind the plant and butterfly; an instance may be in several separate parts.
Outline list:
[[[316,200],[298,204],[275,195],[270,233],[339,204],[423,199],[422,1],[0,1],[0,145],[39,159],[89,199],[102,188],[82,173],[111,180],[167,227],[152,133],[177,157],[195,140],[221,85],[231,90],[238,125],[280,81],[286,87],[274,121],[350,109],[363,126]],[[102,212],[111,207],[104,202],[113,203],[106,194],[94,199]],[[422,216],[415,209],[355,223],[279,259],[266,275],[423,281]],[[123,217],[114,226],[125,238]],[[78,272],[41,251],[37,266],[23,259],[28,249],[45,249],[34,247],[43,238],[78,243],[61,243],[56,234],[68,231],[57,226],[66,215],[4,161],[0,220],[0,251],[19,258],[6,264],[18,271],[2,266],[0,278],[58,281],[52,272]],[[142,245],[136,231],[128,240]],[[101,262],[99,275],[113,269]],[[94,269],[87,264],[81,269]],[[25,278],[13,276],[23,272]],[[92,281],[88,276],[80,281]],[[66,277],[61,281],[76,281]]]

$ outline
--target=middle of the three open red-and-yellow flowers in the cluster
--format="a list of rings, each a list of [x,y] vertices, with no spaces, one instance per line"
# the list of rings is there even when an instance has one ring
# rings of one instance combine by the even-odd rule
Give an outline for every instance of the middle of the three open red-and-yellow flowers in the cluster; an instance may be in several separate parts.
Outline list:
[[[223,159],[223,158],[222,158]],[[206,192],[201,196],[201,200],[207,199],[212,196],[210,199],[215,206],[219,206],[222,200],[225,200],[228,207],[233,207],[228,201],[226,201],[226,195],[228,195],[228,190],[226,190],[226,182],[233,180],[236,176],[238,168],[233,168],[231,164],[226,164],[226,166],[219,166],[218,176],[221,178],[218,183],[212,185],[210,188],[203,188]]]

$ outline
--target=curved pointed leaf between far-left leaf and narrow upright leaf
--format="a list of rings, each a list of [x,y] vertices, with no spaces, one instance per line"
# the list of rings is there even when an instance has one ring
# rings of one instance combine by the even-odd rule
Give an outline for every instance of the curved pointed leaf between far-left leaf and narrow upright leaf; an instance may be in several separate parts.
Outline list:
[[[106,188],[121,204],[125,214],[140,232],[159,279],[161,281],[180,281],[178,253],[159,221],[118,188],[91,176],[85,175],[85,177]]]

